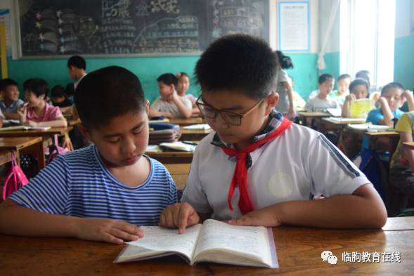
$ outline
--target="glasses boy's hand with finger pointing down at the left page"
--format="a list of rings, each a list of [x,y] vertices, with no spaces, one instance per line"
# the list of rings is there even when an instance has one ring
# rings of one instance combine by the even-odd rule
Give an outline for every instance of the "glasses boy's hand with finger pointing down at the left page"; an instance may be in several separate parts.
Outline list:
[[[197,211],[190,204],[176,203],[168,206],[160,216],[160,226],[179,228],[179,233],[186,231],[187,226],[195,225],[200,221]]]

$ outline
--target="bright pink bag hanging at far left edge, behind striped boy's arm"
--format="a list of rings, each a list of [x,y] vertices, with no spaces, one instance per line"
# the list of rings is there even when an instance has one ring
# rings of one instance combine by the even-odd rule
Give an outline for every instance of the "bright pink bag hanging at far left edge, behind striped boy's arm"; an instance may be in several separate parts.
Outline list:
[[[6,175],[6,180],[4,180],[3,192],[1,193],[1,199],[5,200],[13,192],[19,190],[24,185],[29,183],[25,173],[18,166],[17,158],[15,152],[11,152],[11,168]]]

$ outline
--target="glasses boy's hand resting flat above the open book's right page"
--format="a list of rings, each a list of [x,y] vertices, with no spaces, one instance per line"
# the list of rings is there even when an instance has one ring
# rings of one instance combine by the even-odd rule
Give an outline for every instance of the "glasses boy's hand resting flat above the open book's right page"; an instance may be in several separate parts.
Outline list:
[[[278,214],[272,207],[266,207],[256,211],[251,211],[246,213],[241,218],[231,219],[227,221],[231,225],[254,225],[254,226],[266,226],[266,227],[276,227],[281,223]]]

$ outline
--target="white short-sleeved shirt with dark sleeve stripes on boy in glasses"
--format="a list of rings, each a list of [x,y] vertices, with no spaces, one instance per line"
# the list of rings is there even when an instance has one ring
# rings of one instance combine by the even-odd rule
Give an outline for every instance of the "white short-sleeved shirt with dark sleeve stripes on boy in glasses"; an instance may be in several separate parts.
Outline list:
[[[237,187],[231,201],[233,211],[227,202],[235,160],[211,144],[213,136],[210,133],[195,149],[181,202],[189,203],[199,213],[212,213],[214,219],[238,218],[242,213]],[[311,199],[312,195],[351,195],[370,183],[325,136],[297,124],[250,152],[250,157],[247,187],[254,210]]]

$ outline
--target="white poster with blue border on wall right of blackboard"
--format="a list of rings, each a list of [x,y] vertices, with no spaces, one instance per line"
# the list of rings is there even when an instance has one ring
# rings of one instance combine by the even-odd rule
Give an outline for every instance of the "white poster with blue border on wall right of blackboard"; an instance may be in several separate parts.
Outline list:
[[[280,1],[278,7],[280,51],[309,51],[309,2]]]

